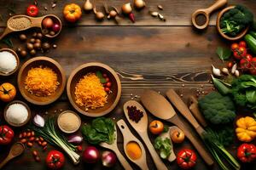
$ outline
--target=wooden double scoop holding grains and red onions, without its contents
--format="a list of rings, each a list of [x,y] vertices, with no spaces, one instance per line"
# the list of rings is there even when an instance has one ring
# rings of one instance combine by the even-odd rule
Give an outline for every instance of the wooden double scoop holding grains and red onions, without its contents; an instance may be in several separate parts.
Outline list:
[[[30,29],[30,28],[32,28],[32,27],[39,27],[39,28],[41,28],[41,31],[43,32],[42,21],[43,21],[44,18],[46,18],[46,17],[54,18],[54,20],[57,20],[57,21],[59,22],[60,26],[61,26],[61,20],[60,20],[56,15],[54,15],[54,14],[46,14],[46,15],[44,15],[44,16],[42,16],[42,17],[37,17],[37,18],[35,18],[35,17],[30,17],[30,16],[23,15],[23,14],[19,14],[19,15],[15,15],[15,16],[9,18],[9,20],[7,21],[7,27],[6,27],[5,30],[3,31],[3,34],[0,36],[0,40],[1,40],[3,37],[5,37],[6,35],[8,35],[9,33],[11,33],[11,32],[25,31],[25,30],[28,30],[28,29]],[[9,22],[10,22],[10,20],[15,20],[15,19],[17,19],[17,18],[26,18],[27,20],[30,20],[30,21],[31,21],[31,25],[30,25],[30,26],[27,26],[27,27],[24,28],[24,29],[15,30],[15,28],[13,28],[12,26],[10,26]],[[62,26],[61,26],[61,27],[62,27]],[[46,37],[56,37],[56,36],[59,35],[60,32],[61,32],[61,30],[58,31],[57,33],[55,33],[54,36],[50,36],[49,34],[44,35],[44,36],[46,36]]]

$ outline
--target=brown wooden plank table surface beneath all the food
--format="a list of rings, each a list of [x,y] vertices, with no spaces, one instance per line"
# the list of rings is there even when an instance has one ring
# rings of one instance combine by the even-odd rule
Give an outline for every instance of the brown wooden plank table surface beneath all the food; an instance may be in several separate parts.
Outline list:
[[[67,3],[79,3],[81,0],[62,0],[55,1],[56,7],[51,8],[51,0],[38,1],[40,14],[56,14],[63,21],[63,29],[61,35],[53,40],[52,43],[57,44],[56,49],[51,49],[47,54],[37,54],[49,56],[57,60],[67,72],[67,77],[78,65],[97,61],[113,67],[118,72],[122,82],[122,96],[119,105],[108,116],[114,117],[115,120],[125,119],[122,111],[122,105],[133,96],[140,95],[143,89],[152,88],[164,94],[168,88],[175,88],[178,94],[183,94],[184,101],[187,102],[187,97],[190,94],[195,94],[196,90],[202,90],[206,93],[212,90],[212,84],[209,83],[209,73],[211,65],[223,66],[217,54],[215,53],[218,46],[228,46],[230,42],[224,41],[218,35],[215,28],[216,14],[212,14],[210,26],[206,31],[195,31],[191,26],[191,14],[195,9],[206,8],[211,5],[214,0],[147,0],[147,8],[142,11],[136,11],[136,23],[131,23],[125,19],[117,26],[113,20],[104,20],[97,22],[94,14],[83,14],[81,20],[74,25],[67,24],[63,20],[62,8]],[[128,2],[127,0],[112,0],[103,1],[95,0],[96,6],[102,8],[102,3],[108,2],[108,5],[120,8],[120,6]],[[32,0],[15,0],[6,1],[0,0],[0,14],[3,20],[0,21],[0,27],[3,30],[6,26],[6,20],[9,18],[9,13],[14,14],[14,11],[8,7],[14,7],[16,14],[25,14],[26,7],[33,3]],[[254,0],[230,0],[229,5],[242,3],[255,14],[256,3]],[[164,8],[160,11],[166,17],[166,22],[153,18],[148,14],[148,10],[157,10],[157,5],[161,4]],[[44,8],[48,8],[45,10]],[[29,31],[29,32],[32,32]],[[17,48],[20,41],[17,40],[16,34],[9,36],[14,42],[14,47]],[[1,44],[1,47],[5,47]],[[26,57],[30,59],[30,57]],[[26,61],[21,59],[21,63]],[[16,85],[17,74],[11,77],[0,77],[0,83],[13,82]],[[22,99],[20,94],[16,99]],[[27,102],[26,102],[27,103]],[[5,104],[0,104],[1,124],[3,120],[3,108]],[[36,106],[30,105],[32,113],[49,114],[60,113],[64,110],[73,110],[69,104],[66,92],[52,105]],[[55,113],[56,112],[56,113]],[[149,116],[149,122],[154,116]],[[180,116],[180,114],[179,114]],[[86,116],[81,116],[84,122],[89,122],[91,119]],[[172,124],[165,122],[166,125]],[[191,127],[189,124],[188,126]],[[130,126],[129,126],[130,127]],[[15,133],[18,133],[20,128],[15,128]],[[137,133],[131,128],[131,132]],[[118,132],[119,133],[119,132]],[[137,136],[138,137],[138,136]],[[154,136],[150,135],[150,139],[154,141]],[[119,149],[124,154],[123,139],[121,133],[118,138]],[[85,144],[84,144],[85,145]],[[194,149],[189,141],[184,144],[174,144],[174,150],[177,153],[181,148]],[[230,151],[234,154],[237,144],[230,146]],[[37,147],[35,147],[37,148]],[[49,147],[48,150],[50,150]],[[9,147],[0,148],[0,161],[7,156]],[[38,150],[40,150],[38,148]],[[40,151],[42,159],[47,152]],[[198,162],[195,169],[218,169],[215,164],[210,168],[205,165],[198,156]],[[73,166],[72,162],[66,156],[67,161],[63,169],[100,169],[101,163],[96,165],[86,165],[80,163],[78,166]],[[155,169],[154,163],[148,154],[147,161],[150,169]],[[130,161],[131,162],[131,161]],[[166,161],[165,161],[166,162]],[[138,169],[136,165],[131,163],[134,169]],[[178,169],[176,162],[166,162],[168,169]],[[252,165],[251,165],[252,166]],[[31,150],[27,149],[26,153],[19,158],[9,162],[4,169],[10,170],[19,168],[20,170],[45,169],[44,161],[33,161]],[[246,169],[246,167],[243,167]],[[254,169],[255,169],[254,165]],[[122,169],[119,163],[113,169]],[[250,167],[253,169],[253,167]]]

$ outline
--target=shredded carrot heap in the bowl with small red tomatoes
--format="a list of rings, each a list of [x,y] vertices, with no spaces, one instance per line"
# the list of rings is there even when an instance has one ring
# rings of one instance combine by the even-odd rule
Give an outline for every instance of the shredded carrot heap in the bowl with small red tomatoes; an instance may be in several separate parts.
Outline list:
[[[107,103],[108,94],[95,73],[88,73],[75,87],[76,103],[86,109],[96,109]]]

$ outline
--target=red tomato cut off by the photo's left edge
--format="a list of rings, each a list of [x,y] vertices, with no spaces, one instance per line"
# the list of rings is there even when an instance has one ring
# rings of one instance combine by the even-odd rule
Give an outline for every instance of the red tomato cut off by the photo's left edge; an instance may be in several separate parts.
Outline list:
[[[0,145],[9,144],[14,138],[14,131],[7,125],[0,126]]]

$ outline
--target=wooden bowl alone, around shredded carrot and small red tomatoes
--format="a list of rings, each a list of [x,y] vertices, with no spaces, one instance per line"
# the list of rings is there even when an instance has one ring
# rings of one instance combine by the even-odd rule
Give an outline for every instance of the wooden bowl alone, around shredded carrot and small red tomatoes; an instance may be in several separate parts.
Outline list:
[[[111,90],[113,91],[113,93],[108,94],[108,103],[105,104],[103,107],[100,107],[97,109],[88,109],[88,111],[85,111],[85,107],[77,105],[75,102],[75,94],[74,94],[75,86],[79,82],[79,80],[82,77],[84,77],[87,73],[96,72],[96,71],[102,71],[103,73],[108,74],[110,82],[112,82]],[[71,105],[73,105],[73,107],[77,111],[79,111],[79,113],[85,116],[96,117],[96,116],[104,116],[108,114],[110,111],[113,111],[115,106],[118,104],[120,96],[121,96],[121,82],[119,80],[118,75],[116,74],[115,71],[113,71],[112,68],[102,63],[87,63],[84,65],[80,65],[71,73],[70,77],[67,80],[67,97]]]

